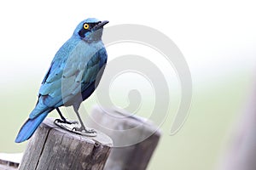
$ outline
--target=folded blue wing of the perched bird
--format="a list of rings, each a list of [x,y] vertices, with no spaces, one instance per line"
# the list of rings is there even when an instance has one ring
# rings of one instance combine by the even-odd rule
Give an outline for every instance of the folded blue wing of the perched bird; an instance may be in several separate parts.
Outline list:
[[[96,79],[102,65],[102,49],[88,53],[86,49],[90,48],[79,47],[81,44],[76,44],[73,50],[65,50],[64,44],[55,55],[39,89],[37,106],[40,109],[37,111],[36,107],[30,118],[44,111],[44,106],[55,108],[67,103]],[[68,44],[67,47],[70,48]]]

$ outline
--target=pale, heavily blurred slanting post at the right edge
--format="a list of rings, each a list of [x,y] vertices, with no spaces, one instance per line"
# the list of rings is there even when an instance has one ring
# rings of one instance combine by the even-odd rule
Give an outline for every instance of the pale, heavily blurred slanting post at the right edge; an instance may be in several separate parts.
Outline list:
[[[256,169],[256,79],[247,101],[247,108],[241,112],[236,126],[230,135],[224,156],[218,170],[255,170]]]

